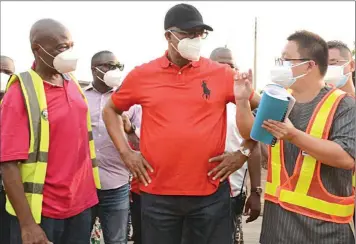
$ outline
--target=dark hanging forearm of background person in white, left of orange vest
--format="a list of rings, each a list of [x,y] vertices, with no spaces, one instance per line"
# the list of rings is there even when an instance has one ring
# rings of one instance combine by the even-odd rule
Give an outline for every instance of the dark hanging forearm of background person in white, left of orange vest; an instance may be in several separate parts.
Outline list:
[[[261,186],[261,148],[258,143],[247,160],[251,189]]]

